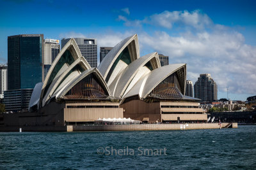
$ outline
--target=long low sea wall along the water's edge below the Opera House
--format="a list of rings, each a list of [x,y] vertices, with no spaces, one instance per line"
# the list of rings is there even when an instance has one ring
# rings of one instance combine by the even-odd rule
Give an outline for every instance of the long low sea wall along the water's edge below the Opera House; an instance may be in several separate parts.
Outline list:
[[[228,123],[221,124],[221,127]],[[237,128],[237,123],[230,125]],[[9,126],[0,127],[0,132],[76,132],[76,131],[168,131],[186,129],[219,129],[218,124],[136,124],[136,125],[67,125],[67,126]]]

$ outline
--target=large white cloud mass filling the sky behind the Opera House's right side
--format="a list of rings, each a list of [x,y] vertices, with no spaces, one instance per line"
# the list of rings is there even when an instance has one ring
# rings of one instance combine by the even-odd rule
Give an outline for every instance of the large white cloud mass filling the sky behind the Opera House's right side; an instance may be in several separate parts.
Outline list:
[[[206,14],[198,10],[164,11],[143,20],[129,20],[122,15],[118,20],[129,26],[128,31],[91,34],[90,37],[98,39],[98,46],[115,46],[122,39],[138,33],[141,55],[156,51],[170,56],[170,64],[188,64],[188,79],[193,83],[199,74],[210,73],[218,83],[219,92],[227,92],[228,87],[233,94],[256,94],[256,46],[244,43],[243,34],[230,27],[214,24]],[[188,29],[181,29],[175,36],[161,28],[153,33],[137,28],[132,31],[134,26],[150,26],[154,22],[164,28],[183,24]],[[74,35],[83,34],[65,34]]]

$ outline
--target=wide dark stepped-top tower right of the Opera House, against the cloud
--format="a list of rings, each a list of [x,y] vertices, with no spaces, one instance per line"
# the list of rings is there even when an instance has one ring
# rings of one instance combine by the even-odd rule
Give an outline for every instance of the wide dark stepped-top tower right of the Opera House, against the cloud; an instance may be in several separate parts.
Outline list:
[[[211,74],[200,74],[194,85],[195,98],[202,101],[217,101],[217,83],[211,78]]]

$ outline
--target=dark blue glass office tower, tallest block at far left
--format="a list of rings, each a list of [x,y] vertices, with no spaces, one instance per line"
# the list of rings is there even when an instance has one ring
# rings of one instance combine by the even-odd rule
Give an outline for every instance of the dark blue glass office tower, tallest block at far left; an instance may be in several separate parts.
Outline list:
[[[44,34],[8,36],[8,90],[44,81]]]

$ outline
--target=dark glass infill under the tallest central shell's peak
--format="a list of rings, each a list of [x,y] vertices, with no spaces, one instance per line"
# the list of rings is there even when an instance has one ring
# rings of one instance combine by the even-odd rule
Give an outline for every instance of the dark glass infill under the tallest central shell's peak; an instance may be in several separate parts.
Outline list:
[[[108,72],[108,76],[106,77],[106,82],[108,83],[108,80],[111,76],[111,74],[113,73],[116,65],[118,64],[118,62],[122,60],[124,61],[126,64],[130,64],[132,61],[131,61],[131,56],[130,56],[130,53],[129,53],[129,50],[128,50],[128,47],[126,46],[124,48],[124,50],[120,53],[120,55],[117,57],[117,59],[115,60],[114,64],[111,66],[111,69],[109,70]]]

